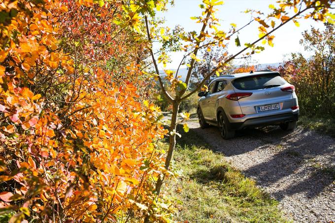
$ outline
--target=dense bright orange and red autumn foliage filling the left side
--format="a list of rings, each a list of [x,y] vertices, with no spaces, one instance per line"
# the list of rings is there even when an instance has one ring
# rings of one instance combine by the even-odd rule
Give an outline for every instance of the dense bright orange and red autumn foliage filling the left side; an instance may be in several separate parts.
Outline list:
[[[15,211],[10,222],[166,220],[154,192],[166,130],[160,109],[141,103],[140,34],[140,13],[164,5],[0,4],[0,208]]]

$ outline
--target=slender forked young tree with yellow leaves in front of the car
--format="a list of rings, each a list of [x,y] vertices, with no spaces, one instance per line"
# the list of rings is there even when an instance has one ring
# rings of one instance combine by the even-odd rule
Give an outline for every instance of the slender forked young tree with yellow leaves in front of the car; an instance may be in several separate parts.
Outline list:
[[[191,17],[191,19],[195,20],[197,23],[202,24],[201,30],[199,32],[188,32],[180,36],[181,46],[179,50],[185,52],[185,56],[180,64],[184,63],[185,61],[189,61],[187,63],[189,68],[185,82],[180,80],[180,77],[178,77],[178,71],[174,74],[171,70],[165,70],[167,75],[166,79],[170,85],[169,87],[174,90],[175,96],[171,96],[167,92],[167,86],[163,78],[160,76],[158,68],[158,63],[161,63],[165,66],[170,60],[167,51],[165,49],[159,50],[161,53],[158,55],[158,59],[156,60],[154,50],[152,47],[150,47],[149,50],[151,59],[155,69],[156,78],[160,83],[161,91],[167,97],[167,100],[169,100],[169,102],[172,104],[172,117],[169,127],[169,149],[165,161],[165,168],[168,170],[170,167],[173,150],[176,143],[175,138],[177,134],[176,125],[178,120],[178,108],[181,101],[185,100],[203,88],[203,85],[211,76],[215,74],[220,75],[221,72],[227,69],[228,63],[230,63],[236,57],[247,56],[255,52],[261,52],[264,50],[264,47],[261,46],[260,43],[272,46],[272,40],[274,38],[273,32],[280,29],[290,21],[293,21],[297,26],[299,26],[298,20],[303,18],[311,18],[322,22],[324,22],[326,19],[332,20],[331,17],[334,18],[334,15],[329,13],[329,9],[334,7],[332,6],[332,3],[333,0],[278,0],[277,5],[269,5],[271,12],[268,15],[265,15],[264,13],[257,10],[248,9],[245,12],[251,13],[253,20],[249,21],[246,26],[252,22],[258,23],[259,38],[252,40],[250,43],[245,43],[242,47],[237,33],[241,32],[246,26],[238,29],[236,25],[232,23],[229,30],[220,30],[219,20],[215,16],[215,12],[217,11],[215,6],[223,4],[223,2],[220,0],[203,0],[202,4],[200,5],[202,9],[201,15]],[[164,31],[159,34],[157,30],[154,30],[152,28],[154,26],[154,22],[149,20],[148,16],[145,17],[145,22],[147,38],[150,43],[155,40],[160,41],[164,45],[169,41],[169,36],[171,35],[169,35],[168,32],[164,33]],[[223,57],[223,60],[212,67],[212,69],[203,77],[197,87],[186,93],[186,91],[189,90],[195,63],[201,61],[201,58],[198,56],[200,50],[202,48],[210,49],[210,47],[220,47],[228,52],[227,46],[230,41],[234,41],[236,46],[241,47],[241,50],[236,54],[229,54],[226,57]],[[183,114],[182,116],[184,118],[188,117],[187,114]],[[187,130],[188,128],[184,126],[184,129]],[[157,181],[156,191],[158,194],[161,191],[163,181],[164,176],[161,176]]]

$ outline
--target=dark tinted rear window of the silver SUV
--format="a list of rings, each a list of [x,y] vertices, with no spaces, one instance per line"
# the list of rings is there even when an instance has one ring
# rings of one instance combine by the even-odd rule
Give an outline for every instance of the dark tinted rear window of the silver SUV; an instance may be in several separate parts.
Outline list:
[[[233,85],[238,90],[257,90],[277,87],[285,84],[279,73],[266,73],[248,77],[236,78]]]

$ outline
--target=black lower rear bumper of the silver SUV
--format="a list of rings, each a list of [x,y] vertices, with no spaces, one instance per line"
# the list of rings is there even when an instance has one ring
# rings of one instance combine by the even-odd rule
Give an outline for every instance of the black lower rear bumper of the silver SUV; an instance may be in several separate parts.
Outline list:
[[[265,117],[251,118],[247,119],[244,122],[230,123],[229,126],[231,129],[242,129],[244,127],[260,127],[260,126],[270,126],[270,125],[279,125],[280,123],[289,122],[289,121],[298,121],[298,113],[284,113],[279,115],[271,115]]]

